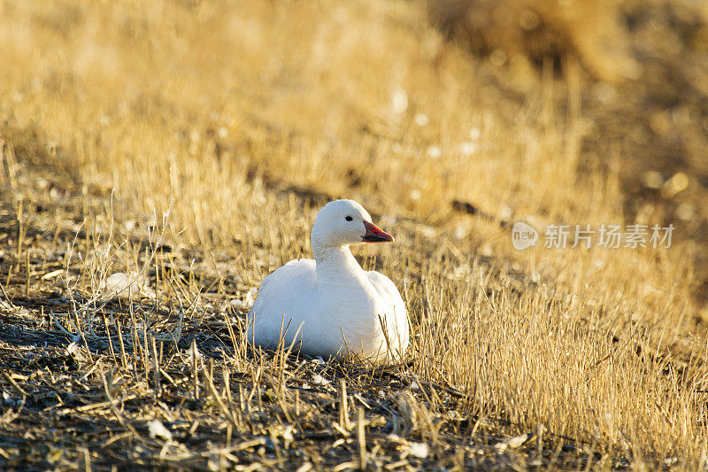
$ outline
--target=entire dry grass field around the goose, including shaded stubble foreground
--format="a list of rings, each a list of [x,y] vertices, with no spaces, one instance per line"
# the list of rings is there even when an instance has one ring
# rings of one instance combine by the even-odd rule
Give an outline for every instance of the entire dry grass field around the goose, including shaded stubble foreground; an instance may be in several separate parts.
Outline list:
[[[635,192],[661,175],[598,135],[620,105],[586,97],[629,103],[647,81],[601,81],[614,69],[587,38],[515,68],[431,16],[0,2],[0,468],[708,466],[702,161]],[[690,110],[675,139],[708,129]],[[682,190],[695,224],[674,218]],[[337,197],[396,236],[354,252],[404,296],[402,365],[242,336],[251,289],[311,257]],[[669,249],[512,246],[512,221],[674,220]]]

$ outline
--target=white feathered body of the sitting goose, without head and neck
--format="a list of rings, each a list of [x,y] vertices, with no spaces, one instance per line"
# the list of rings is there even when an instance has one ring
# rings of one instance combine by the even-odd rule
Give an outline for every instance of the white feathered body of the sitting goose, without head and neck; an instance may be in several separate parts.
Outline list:
[[[268,275],[249,312],[249,341],[275,348],[282,338],[286,349],[323,358],[400,360],[409,329],[396,285],[358,264],[327,275],[318,280],[312,259],[291,260]]]

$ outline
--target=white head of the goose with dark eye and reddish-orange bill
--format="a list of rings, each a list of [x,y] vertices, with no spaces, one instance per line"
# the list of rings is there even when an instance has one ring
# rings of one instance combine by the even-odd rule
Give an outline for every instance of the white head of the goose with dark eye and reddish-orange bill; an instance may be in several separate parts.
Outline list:
[[[363,243],[393,243],[393,236],[371,221],[371,215],[353,200],[335,200],[323,206],[312,226],[312,245],[341,247]]]

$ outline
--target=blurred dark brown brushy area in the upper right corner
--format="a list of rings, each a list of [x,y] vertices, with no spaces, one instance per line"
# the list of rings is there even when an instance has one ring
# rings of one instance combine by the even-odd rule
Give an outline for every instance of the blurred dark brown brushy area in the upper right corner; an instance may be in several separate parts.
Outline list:
[[[550,77],[577,81],[575,103],[566,93],[555,100],[581,109],[578,177],[616,170],[625,221],[658,218],[694,242],[704,302],[708,3],[443,1],[427,10],[504,99],[523,101]]]

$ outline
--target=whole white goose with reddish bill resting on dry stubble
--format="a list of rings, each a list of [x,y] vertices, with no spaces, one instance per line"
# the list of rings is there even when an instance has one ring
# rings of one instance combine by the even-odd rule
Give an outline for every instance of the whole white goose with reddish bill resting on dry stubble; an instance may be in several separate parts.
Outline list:
[[[293,259],[268,275],[250,308],[246,336],[265,348],[283,346],[312,357],[391,362],[408,346],[405,304],[389,277],[362,269],[351,244],[393,243],[362,205],[335,200],[312,227],[315,259]]]

